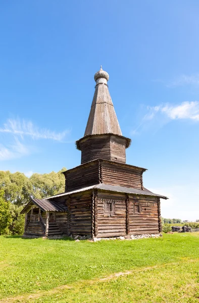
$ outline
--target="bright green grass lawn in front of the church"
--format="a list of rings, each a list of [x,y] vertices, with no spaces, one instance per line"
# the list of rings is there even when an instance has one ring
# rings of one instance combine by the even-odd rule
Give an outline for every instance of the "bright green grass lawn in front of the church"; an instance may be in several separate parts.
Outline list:
[[[199,233],[95,243],[0,237],[0,302],[198,302],[198,286]]]

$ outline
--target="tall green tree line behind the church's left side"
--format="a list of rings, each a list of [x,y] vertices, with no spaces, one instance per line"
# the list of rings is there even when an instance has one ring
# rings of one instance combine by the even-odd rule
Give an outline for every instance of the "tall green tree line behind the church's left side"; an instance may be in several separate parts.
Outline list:
[[[31,197],[44,198],[65,191],[65,177],[59,172],[34,173],[30,178],[23,173],[0,171],[0,235],[23,234],[24,214],[20,212]]]

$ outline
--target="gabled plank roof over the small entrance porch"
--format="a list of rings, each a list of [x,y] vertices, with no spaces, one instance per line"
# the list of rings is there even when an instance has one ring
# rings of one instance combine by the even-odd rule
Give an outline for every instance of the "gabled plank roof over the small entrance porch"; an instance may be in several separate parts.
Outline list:
[[[66,212],[67,209],[63,208],[59,204],[57,204],[55,201],[47,200],[47,199],[36,199],[36,198],[31,198],[29,203],[23,208],[21,211],[21,214],[26,213],[28,210],[30,204],[33,203],[36,205],[38,208],[40,208],[43,212],[50,211],[50,212]]]

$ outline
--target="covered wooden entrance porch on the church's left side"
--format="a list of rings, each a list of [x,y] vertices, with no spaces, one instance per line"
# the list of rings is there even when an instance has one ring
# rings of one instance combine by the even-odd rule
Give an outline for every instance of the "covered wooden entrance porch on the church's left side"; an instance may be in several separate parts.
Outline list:
[[[67,209],[55,201],[31,198],[21,211],[25,214],[24,235],[50,236],[65,233]]]

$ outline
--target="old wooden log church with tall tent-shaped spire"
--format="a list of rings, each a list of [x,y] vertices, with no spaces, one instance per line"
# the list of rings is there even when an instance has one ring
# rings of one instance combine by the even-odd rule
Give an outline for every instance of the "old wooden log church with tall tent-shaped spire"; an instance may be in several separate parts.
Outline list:
[[[25,235],[116,237],[161,232],[160,198],[147,190],[146,169],[126,164],[131,140],[122,135],[102,67],[84,136],[81,165],[64,172],[65,192],[32,198],[24,207]]]

